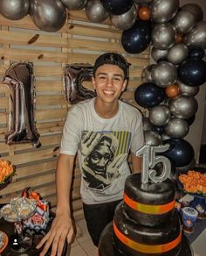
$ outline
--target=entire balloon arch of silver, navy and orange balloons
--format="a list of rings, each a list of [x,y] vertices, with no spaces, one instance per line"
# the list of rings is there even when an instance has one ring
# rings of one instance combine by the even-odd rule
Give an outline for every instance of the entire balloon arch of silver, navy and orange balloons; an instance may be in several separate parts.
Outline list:
[[[179,0],[2,0],[0,13],[12,20],[31,15],[40,30],[56,32],[66,11],[85,10],[92,22],[106,18],[122,30],[120,43],[137,54],[152,46],[154,64],[142,70],[136,103],[148,108],[144,132],[148,145],[170,145],[168,158],[176,168],[194,164],[194,150],[183,139],[196,117],[196,94],[206,82],[206,21],[197,4]]]

